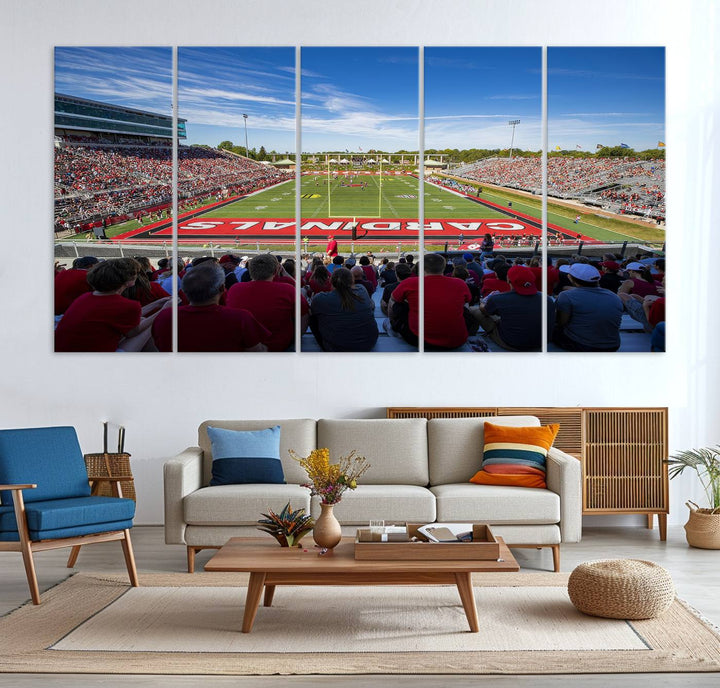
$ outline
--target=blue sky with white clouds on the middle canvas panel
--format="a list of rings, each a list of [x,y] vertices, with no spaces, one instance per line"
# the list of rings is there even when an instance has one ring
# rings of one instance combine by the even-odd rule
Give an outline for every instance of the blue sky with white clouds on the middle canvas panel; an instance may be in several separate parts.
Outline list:
[[[303,151],[418,148],[417,48],[303,48]]]

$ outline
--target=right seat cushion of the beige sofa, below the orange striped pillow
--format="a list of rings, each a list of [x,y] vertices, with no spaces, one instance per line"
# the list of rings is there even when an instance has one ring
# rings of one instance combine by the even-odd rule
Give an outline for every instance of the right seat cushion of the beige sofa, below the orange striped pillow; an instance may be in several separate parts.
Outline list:
[[[430,488],[437,498],[438,521],[558,523],[560,496],[532,487],[457,483]]]

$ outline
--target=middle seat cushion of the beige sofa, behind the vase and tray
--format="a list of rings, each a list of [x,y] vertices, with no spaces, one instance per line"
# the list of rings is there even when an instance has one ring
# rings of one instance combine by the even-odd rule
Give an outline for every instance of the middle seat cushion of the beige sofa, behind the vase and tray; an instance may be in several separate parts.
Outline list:
[[[320,500],[312,499],[312,515],[320,515]],[[358,485],[347,490],[333,509],[341,525],[364,525],[369,520],[419,521],[435,520],[435,497],[425,487],[417,485]]]

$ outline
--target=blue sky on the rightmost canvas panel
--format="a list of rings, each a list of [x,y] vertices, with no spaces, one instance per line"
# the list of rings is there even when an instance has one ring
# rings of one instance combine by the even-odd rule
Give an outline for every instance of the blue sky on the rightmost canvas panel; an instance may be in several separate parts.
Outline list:
[[[663,48],[548,48],[548,147],[665,141]]]

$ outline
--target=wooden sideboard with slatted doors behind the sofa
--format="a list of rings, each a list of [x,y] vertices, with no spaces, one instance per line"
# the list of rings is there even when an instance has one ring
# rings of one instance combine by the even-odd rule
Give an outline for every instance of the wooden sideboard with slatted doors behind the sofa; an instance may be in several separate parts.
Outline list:
[[[583,514],[657,514],[660,539],[669,512],[667,408],[388,407],[388,418],[536,416],[559,423],[554,445],[582,462]]]

